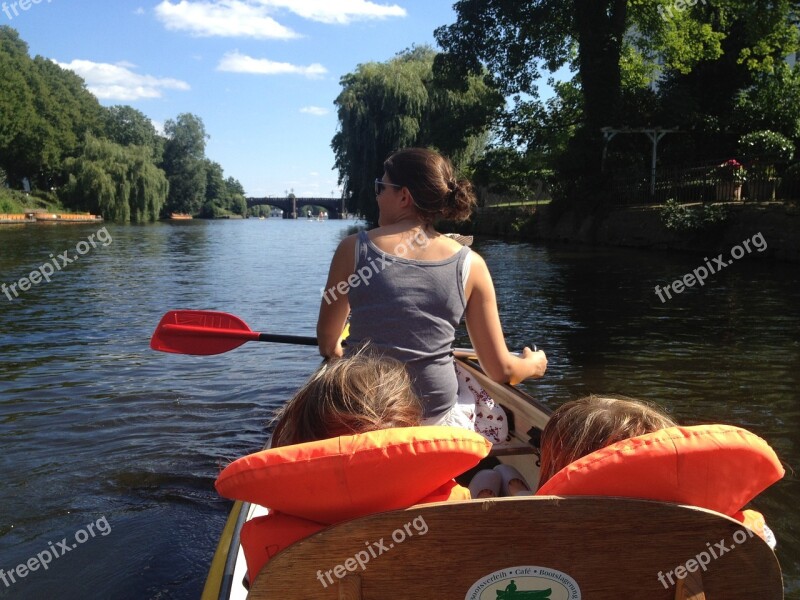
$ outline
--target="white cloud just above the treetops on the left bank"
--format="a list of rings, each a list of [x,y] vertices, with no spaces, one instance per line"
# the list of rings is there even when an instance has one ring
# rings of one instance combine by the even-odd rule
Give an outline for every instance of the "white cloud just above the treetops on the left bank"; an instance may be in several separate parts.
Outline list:
[[[188,83],[179,79],[134,73],[134,65],[127,62],[112,65],[90,60],[73,60],[71,63],[56,64],[83,77],[86,87],[100,100],[131,102],[143,98],[160,98],[165,89],[190,89]]]

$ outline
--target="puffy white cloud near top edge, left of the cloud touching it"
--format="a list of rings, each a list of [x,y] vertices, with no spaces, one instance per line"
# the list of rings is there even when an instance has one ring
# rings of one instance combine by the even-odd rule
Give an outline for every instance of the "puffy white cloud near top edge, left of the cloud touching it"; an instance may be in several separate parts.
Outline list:
[[[156,16],[167,29],[188,31],[201,37],[253,37],[292,39],[297,33],[269,16],[266,6],[251,1],[218,0],[173,4],[163,0],[156,6]]]

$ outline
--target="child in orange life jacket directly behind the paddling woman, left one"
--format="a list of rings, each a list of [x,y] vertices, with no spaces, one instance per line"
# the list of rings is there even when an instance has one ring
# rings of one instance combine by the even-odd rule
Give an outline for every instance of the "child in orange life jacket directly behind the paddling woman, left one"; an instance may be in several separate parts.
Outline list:
[[[277,551],[326,525],[469,499],[453,477],[491,444],[475,432],[418,427],[421,417],[398,360],[361,348],[324,364],[278,412],[271,448],[234,461],[217,478],[223,496],[270,508],[242,527],[250,578]]]

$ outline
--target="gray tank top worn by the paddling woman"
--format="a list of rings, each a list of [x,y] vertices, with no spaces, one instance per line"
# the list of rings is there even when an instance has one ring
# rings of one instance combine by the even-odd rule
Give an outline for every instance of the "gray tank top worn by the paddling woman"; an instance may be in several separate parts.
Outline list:
[[[425,418],[450,410],[458,395],[452,346],[467,306],[462,272],[469,252],[465,246],[445,260],[411,260],[386,254],[366,231],[358,235],[348,347],[369,341],[404,362]]]

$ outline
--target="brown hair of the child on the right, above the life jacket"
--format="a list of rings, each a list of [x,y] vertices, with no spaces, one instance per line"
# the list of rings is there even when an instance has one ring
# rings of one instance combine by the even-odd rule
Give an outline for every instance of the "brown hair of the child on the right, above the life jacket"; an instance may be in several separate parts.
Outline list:
[[[553,412],[542,431],[539,487],[595,450],[675,425],[655,407],[624,396],[589,395],[566,402]]]

